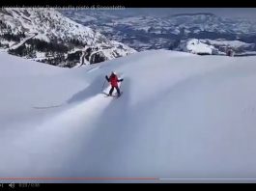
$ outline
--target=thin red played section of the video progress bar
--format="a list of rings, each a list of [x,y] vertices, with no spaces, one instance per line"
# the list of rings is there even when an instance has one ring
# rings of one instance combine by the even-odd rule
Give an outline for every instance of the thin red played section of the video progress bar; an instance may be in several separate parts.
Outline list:
[[[48,179],[48,180],[64,180],[64,179],[71,179],[71,180],[156,180],[159,178],[156,177],[0,177],[0,179]]]

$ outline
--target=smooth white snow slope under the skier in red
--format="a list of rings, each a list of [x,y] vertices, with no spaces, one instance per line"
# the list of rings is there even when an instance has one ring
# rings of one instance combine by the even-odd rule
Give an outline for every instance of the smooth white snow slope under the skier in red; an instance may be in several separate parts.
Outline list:
[[[156,50],[71,69],[0,58],[0,177],[256,177],[253,56]],[[118,99],[100,94],[111,70],[125,78]]]

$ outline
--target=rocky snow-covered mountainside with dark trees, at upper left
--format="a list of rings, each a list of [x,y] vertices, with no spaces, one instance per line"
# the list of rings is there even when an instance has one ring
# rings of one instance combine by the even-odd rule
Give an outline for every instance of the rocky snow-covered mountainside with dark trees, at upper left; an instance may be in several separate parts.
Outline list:
[[[0,10],[0,47],[14,55],[73,67],[127,56],[135,50],[46,8]]]

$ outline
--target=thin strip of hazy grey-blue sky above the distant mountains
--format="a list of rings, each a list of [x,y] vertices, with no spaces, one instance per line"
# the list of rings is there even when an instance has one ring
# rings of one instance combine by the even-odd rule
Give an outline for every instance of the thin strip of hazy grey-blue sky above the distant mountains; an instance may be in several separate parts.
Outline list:
[[[127,10],[156,15],[212,13],[224,17],[244,17],[256,20],[256,8],[128,8]]]

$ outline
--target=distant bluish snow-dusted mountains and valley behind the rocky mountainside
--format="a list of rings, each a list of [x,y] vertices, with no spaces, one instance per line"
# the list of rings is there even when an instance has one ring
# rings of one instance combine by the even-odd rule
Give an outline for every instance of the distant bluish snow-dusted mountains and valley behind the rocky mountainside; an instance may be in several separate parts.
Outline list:
[[[256,22],[242,18],[229,19],[208,13],[154,16],[126,11],[60,12],[138,51],[170,49],[175,41],[187,39],[236,41],[239,38],[246,43],[256,42]]]

